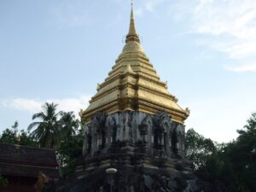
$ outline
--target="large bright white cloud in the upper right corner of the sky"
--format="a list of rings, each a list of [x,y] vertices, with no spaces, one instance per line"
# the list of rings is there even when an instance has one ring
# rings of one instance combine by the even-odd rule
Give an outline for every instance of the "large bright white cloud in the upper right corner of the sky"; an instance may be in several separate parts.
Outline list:
[[[204,46],[224,52],[231,60],[244,63],[249,58],[256,63],[255,0],[181,0],[172,14],[175,20],[187,19],[189,31],[205,35]],[[248,68],[233,71],[255,72]]]

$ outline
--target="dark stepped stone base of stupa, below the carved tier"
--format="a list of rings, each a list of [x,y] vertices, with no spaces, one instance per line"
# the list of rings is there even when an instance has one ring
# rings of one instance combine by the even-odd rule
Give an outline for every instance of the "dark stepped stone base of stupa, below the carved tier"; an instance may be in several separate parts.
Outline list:
[[[150,158],[143,154],[109,154],[84,160],[68,179],[52,184],[51,192],[195,192],[201,191],[186,160]],[[114,167],[117,172],[106,170]]]

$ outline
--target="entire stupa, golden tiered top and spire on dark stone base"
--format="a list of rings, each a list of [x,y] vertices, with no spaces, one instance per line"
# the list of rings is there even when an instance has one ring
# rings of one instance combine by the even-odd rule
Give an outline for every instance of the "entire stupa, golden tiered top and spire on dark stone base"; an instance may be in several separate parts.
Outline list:
[[[76,172],[45,191],[198,191],[185,158],[189,109],[160,81],[143,51],[133,10],[125,46],[90,105]]]

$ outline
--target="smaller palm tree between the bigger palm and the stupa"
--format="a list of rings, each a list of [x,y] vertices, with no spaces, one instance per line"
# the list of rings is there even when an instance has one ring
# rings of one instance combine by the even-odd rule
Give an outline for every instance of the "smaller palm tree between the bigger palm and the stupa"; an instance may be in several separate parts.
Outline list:
[[[73,112],[61,112],[61,136],[68,139],[76,134],[79,128],[79,120],[76,119]]]

